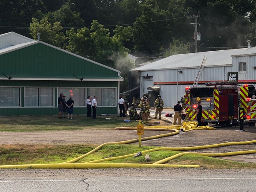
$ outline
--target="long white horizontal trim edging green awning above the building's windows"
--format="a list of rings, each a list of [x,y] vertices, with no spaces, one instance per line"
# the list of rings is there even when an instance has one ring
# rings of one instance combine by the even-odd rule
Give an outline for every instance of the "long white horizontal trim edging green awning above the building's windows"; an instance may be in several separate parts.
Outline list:
[[[6,77],[0,77],[0,80],[9,80]],[[33,80],[33,81],[81,81],[80,79],[64,79],[64,78],[20,78],[12,77],[12,80]],[[83,81],[124,81],[124,79],[84,79]]]

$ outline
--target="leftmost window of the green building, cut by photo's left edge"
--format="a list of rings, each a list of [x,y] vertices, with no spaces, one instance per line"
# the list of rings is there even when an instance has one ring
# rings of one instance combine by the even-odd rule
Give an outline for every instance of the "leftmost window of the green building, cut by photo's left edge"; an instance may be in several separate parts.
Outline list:
[[[0,87],[0,107],[20,106],[20,87]]]

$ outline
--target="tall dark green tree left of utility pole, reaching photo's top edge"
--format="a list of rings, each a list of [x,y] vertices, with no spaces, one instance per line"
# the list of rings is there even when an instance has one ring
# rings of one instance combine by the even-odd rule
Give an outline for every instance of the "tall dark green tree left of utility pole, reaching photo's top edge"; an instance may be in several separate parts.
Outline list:
[[[180,38],[183,35],[180,30],[187,29],[183,25],[187,15],[183,0],[146,0],[141,7],[142,14],[134,23],[133,42],[136,51],[167,48],[173,36]],[[182,18],[172,19],[176,17]]]

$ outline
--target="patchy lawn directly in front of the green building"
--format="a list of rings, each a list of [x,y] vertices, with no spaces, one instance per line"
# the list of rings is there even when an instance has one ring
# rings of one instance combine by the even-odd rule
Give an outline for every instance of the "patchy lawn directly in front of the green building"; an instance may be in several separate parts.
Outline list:
[[[106,120],[106,118],[112,120]],[[0,116],[0,131],[65,131],[85,129],[110,129],[115,127],[136,127],[138,122],[124,122],[129,117],[96,116],[96,119],[84,115],[71,119],[58,119],[58,116]],[[107,122],[107,123],[106,123]]]

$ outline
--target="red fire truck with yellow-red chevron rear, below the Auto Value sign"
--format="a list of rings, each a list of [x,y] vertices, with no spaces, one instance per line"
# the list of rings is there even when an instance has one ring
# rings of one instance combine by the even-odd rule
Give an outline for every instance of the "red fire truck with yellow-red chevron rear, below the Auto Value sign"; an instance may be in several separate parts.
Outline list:
[[[232,126],[239,118],[238,85],[236,82],[207,82],[203,87],[185,88],[184,121],[196,121],[197,102],[202,105],[203,125]]]

